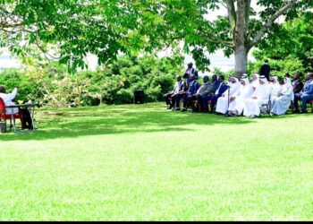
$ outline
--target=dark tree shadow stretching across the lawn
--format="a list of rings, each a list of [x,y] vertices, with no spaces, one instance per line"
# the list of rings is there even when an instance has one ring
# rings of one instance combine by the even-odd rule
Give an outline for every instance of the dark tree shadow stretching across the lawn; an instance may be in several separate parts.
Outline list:
[[[280,119],[294,117],[261,116]],[[192,125],[242,125],[256,122],[245,117],[182,113],[166,110],[164,104],[123,105],[90,108],[38,110],[38,130],[30,134],[1,134],[0,141],[49,140],[100,134],[134,134],[195,131]],[[188,127],[186,127],[188,125]],[[190,127],[191,125],[191,127]]]

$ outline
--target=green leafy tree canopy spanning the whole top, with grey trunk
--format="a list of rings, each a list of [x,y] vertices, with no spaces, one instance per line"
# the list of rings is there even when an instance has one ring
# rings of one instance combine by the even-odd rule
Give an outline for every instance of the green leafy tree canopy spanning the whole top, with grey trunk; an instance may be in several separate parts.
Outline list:
[[[246,70],[247,55],[259,41],[270,41],[282,24],[312,7],[310,0],[9,0],[0,6],[0,45],[23,55],[36,46],[71,68],[84,67],[88,53],[99,64],[118,53],[156,52],[178,47],[207,70],[207,53],[235,54],[236,72]],[[216,9],[224,15],[210,18]],[[22,43],[22,44],[21,44]],[[49,47],[51,46],[51,47]],[[53,56],[50,56],[53,57]]]

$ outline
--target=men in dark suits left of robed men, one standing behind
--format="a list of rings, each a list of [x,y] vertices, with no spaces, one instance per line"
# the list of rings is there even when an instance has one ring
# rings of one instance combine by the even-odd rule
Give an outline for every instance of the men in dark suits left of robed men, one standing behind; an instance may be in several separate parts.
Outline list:
[[[165,102],[169,109],[187,111],[190,106],[193,112],[208,112],[208,100],[211,104],[216,105],[217,99],[227,90],[224,83],[224,76],[213,75],[212,82],[209,77],[203,77],[203,84],[200,86],[198,82],[198,71],[192,67],[192,63],[188,65],[183,76],[176,77],[176,83],[172,91],[165,94]],[[183,102],[182,108],[180,107]]]

